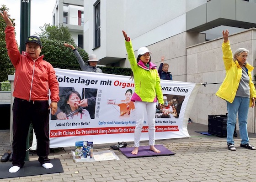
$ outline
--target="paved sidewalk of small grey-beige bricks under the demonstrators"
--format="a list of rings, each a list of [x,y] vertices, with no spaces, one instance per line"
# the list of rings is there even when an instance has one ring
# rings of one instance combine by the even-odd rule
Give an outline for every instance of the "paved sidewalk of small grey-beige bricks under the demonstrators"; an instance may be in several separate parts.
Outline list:
[[[239,136],[235,138],[237,150],[233,152],[227,149],[225,137],[195,132],[208,131],[206,125],[190,123],[188,131],[190,138],[156,141],[175,152],[173,156],[127,158],[113,150],[120,160],[74,162],[71,155],[74,147],[64,147],[49,156],[61,160],[64,172],[0,179],[0,182],[256,182],[256,151],[240,147]],[[251,144],[256,146],[256,134],[249,136]],[[105,151],[111,145],[95,145],[94,150]],[[133,142],[128,142],[128,146],[132,145]],[[8,149],[11,149],[10,131],[0,131],[0,157]],[[37,160],[37,155],[30,155],[30,160]]]

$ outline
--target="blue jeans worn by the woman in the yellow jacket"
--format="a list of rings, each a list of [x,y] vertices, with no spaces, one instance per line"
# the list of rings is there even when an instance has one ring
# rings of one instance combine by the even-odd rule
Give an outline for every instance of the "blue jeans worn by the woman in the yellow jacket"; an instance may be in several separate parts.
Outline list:
[[[236,115],[238,113],[239,133],[241,144],[249,142],[247,132],[247,117],[249,111],[250,98],[235,96],[233,103],[227,101],[228,121],[227,121],[227,144],[233,144],[233,135],[235,131]]]

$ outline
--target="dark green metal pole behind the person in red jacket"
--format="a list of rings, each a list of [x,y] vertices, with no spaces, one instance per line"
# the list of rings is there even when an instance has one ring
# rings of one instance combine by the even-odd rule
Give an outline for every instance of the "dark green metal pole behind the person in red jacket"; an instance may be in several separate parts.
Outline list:
[[[21,0],[21,39],[20,39],[20,53],[26,51],[25,42],[27,37],[30,36],[30,0]],[[26,148],[29,148],[29,133],[27,134]],[[25,161],[29,161],[29,150],[26,152]]]

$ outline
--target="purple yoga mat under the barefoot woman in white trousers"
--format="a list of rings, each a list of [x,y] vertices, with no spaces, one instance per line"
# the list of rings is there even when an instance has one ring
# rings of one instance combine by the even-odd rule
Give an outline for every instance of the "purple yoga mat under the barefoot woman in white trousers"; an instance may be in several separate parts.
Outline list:
[[[119,150],[128,158],[132,157],[148,157],[148,156],[165,156],[165,155],[174,155],[175,153],[168,150],[163,145],[155,145],[155,148],[160,150],[160,153],[155,153],[149,150],[149,146],[140,146],[139,152],[137,155],[133,155],[131,152],[133,151],[134,147],[124,147],[119,148]]]

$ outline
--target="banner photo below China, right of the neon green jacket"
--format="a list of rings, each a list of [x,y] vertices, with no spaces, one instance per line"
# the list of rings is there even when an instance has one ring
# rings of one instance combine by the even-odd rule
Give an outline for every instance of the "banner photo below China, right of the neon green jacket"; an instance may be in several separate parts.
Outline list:
[[[157,102],[155,118],[179,118],[185,96],[163,94],[164,104]]]

